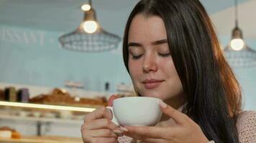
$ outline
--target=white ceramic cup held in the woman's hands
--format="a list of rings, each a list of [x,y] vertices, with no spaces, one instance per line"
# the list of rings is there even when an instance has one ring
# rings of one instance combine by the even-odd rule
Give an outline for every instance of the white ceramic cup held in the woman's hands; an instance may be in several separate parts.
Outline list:
[[[155,126],[162,117],[161,99],[153,97],[122,97],[114,99],[112,122],[120,126]]]

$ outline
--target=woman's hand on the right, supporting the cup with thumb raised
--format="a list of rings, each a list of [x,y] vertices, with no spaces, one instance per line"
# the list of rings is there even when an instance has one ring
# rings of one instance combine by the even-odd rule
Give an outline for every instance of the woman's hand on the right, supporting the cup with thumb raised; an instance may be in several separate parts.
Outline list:
[[[154,143],[206,143],[209,140],[205,137],[201,128],[193,122],[186,114],[178,112],[164,102],[160,102],[160,109],[175,121],[175,125],[165,127],[124,127],[128,129],[124,135],[143,142]]]

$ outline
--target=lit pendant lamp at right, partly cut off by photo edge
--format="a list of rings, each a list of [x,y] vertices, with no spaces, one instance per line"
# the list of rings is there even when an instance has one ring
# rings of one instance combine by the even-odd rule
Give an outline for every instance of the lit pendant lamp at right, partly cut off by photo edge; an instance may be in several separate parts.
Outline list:
[[[242,30],[238,26],[237,0],[234,0],[234,6],[235,27],[232,30],[232,39],[224,49],[224,54],[234,68],[256,67],[256,51],[247,46],[242,36]]]

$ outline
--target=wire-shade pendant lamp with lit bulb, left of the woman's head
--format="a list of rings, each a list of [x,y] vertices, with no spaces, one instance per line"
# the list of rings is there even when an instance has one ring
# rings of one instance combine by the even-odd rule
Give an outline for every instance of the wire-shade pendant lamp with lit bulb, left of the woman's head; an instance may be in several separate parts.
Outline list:
[[[83,21],[78,28],[60,36],[59,41],[64,49],[73,51],[98,52],[116,49],[121,38],[111,34],[100,26],[92,1],[81,6],[84,11]]]

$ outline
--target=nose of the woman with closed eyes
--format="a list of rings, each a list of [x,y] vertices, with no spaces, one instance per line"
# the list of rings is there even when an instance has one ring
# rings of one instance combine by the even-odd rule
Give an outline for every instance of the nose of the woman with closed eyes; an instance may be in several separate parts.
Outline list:
[[[152,54],[146,54],[143,61],[143,72],[148,73],[150,71],[157,71],[157,62],[155,56]]]

